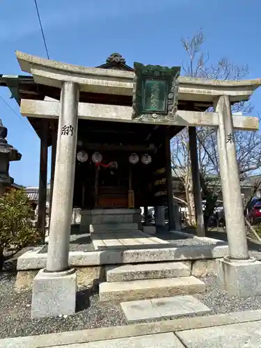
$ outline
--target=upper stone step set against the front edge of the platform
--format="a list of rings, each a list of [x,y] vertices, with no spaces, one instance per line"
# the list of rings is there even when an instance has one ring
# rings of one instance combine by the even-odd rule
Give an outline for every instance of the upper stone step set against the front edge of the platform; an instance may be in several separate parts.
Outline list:
[[[182,262],[159,262],[125,264],[120,267],[106,267],[107,282],[128,280],[177,278],[190,276],[190,267]]]

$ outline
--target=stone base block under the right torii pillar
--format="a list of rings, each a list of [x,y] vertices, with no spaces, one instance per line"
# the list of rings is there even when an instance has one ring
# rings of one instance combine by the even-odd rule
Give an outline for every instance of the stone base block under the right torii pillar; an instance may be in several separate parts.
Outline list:
[[[230,296],[248,297],[261,294],[261,262],[253,258],[216,260],[217,283]]]

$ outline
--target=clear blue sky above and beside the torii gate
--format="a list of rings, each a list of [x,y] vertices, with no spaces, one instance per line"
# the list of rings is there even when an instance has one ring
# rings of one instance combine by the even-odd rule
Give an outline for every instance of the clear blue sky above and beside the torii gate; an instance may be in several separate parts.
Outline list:
[[[202,27],[210,61],[248,63],[248,77],[261,77],[260,0],[38,0],[38,7],[49,56],[56,61],[95,66],[119,52],[129,65],[182,65],[187,56],[180,38]],[[0,73],[22,74],[15,50],[46,56],[34,1],[1,0],[0,13]],[[19,113],[7,88],[0,95]],[[260,97],[261,88],[253,96],[253,114],[261,111]],[[22,152],[10,175],[18,184],[38,186],[38,136],[1,100],[0,118],[8,142]]]

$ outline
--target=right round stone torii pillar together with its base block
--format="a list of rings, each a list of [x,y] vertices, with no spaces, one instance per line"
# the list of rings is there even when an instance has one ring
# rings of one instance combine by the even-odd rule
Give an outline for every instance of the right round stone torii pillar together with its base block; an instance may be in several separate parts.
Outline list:
[[[232,296],[256,296],[261,294],[261,262],[248,256],[244,209],[228,96],[223,95],[216,101],[216,112],[219,113],[217,145],[229,247],[228,257],[217,260],[217,281],[219,286]]]

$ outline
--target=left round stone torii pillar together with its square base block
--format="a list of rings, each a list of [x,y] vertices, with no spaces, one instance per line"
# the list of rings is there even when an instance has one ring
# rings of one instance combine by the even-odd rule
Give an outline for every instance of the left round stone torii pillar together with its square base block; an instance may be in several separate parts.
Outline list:
[[[61,90],[56,148],[52,216],[47,268],[33,282],[32,317],[75,313],[77,276],[69,268],[70,228],[77,146],[77,84],[65,82]]]

